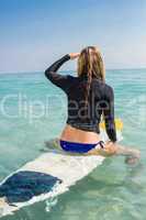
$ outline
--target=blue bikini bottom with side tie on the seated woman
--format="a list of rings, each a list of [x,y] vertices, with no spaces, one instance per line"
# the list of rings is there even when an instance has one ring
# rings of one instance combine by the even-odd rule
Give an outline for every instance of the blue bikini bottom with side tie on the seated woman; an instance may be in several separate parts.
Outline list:
[[[88,144],[88,143],[76,143],[76,142],[68,142],[60,140],[60,146],[64,151],[70,152],[70,153],[87,153],[90,150],[97,147],[99,145],[100,148],[104,147],[104,142],[99,141],[94,144]]]

